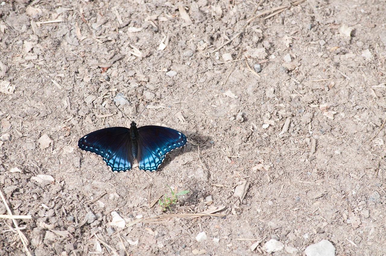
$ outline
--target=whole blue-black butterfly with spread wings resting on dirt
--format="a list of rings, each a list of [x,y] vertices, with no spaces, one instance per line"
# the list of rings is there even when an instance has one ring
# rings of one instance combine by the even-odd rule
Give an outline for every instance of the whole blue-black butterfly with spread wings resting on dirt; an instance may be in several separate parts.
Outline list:
[[[78,141],[81,150],[100,155],[113,172],[126,172],[134,159],[141,170],[155,171],[167,153],[186,144],[186,136],[171,128],[147,125],[110,127],[93,131]]]

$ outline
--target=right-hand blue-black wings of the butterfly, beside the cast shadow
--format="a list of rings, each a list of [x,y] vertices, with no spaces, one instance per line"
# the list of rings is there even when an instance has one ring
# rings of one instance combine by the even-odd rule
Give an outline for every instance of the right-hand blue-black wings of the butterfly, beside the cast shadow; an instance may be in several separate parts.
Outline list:
[[[167,153],[186,144],[186,136],[181,132],[155,125],[138,128],[138,167],[154,171],[163,162]]]

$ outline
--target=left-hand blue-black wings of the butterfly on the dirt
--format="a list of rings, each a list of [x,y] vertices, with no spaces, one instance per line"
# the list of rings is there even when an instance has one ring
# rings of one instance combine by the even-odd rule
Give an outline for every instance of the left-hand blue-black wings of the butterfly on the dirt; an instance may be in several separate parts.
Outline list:
[[[113,172],[131,169],[133,157],[130,146],[130,129],[110,127],[93,131],[78,141],[81,150],[100,155]]]

